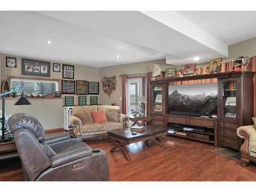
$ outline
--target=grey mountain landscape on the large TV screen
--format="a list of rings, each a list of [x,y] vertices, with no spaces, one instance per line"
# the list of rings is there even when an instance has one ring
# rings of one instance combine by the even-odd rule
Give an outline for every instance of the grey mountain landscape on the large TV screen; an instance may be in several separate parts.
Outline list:
[[[193,86],[187,87],[190,91],[186,91],[186,94],[183,94],[179,87],[181,86],[170,86],[169,87],[169,96],[168,96],[168,108],[169,111],[178,111],[178,112],[194,112],[194,113],[210,113],[217,115],[218,114],[218,95],[217,87],[216,89],[208,88],[206,93],[202,88],[202,93],[197,94],[193,93]],[[177,87],[175,90],[172,89]],[[209,90],[210,89],[210,90]],[[173,91],[174,90],[174,91]],[[188,93],[187,93],[188,92]]]

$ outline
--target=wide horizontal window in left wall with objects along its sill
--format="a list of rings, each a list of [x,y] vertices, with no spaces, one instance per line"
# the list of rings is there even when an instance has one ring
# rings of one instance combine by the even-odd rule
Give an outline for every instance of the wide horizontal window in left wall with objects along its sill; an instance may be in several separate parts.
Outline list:
[[[10,79],[10,88],[14,90],[17,86],[23,87],[25,95],[31,94],[33,91],[37,91],[38,94],[47,95],[54,94],[58,91],[58,80],[36,80],[36,79]],[[17,93],[20,95],[21,93]]]

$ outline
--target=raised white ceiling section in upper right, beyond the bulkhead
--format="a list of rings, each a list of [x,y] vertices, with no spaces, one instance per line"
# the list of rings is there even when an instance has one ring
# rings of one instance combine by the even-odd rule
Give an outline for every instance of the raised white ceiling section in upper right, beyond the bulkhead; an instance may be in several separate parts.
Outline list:
[[[256,36],[256,11],[177,11],[226,45]]]

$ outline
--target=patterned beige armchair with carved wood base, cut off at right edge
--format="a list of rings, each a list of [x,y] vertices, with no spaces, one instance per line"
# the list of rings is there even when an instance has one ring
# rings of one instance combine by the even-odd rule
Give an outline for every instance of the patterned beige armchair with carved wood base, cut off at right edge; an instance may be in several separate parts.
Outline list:
[[[256,118],[255,118],[256,119]],[[253,120],[255,120],[253,118]],[[237,134],[245,139],[241,146],[242,166],[246,166],[250,161],[256,162],[256,127],[255,125],[240,126]]]

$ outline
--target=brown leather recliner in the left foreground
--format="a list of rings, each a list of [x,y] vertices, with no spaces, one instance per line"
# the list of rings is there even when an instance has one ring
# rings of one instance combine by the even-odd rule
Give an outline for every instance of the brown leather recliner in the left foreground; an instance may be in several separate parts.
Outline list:
[[[8,119],[27,181],[108,181],[109,163],[102,150],[68,135],[45,139],[41,123],[17,113]]]

